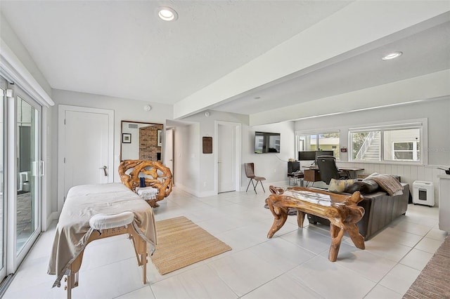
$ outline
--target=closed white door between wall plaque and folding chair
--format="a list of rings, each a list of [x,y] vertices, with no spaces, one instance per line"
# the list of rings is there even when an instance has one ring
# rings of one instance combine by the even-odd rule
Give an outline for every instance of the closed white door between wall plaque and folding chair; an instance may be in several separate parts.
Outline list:
[[[217,160],[217,192],[236,190],[236,147],[235,127],[219,124],[217,127],[218,160]]]

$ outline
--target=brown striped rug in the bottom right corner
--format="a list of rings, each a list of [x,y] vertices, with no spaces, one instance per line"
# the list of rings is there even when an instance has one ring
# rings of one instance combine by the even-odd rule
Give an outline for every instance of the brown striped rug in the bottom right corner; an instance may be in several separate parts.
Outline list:
[[[403,298],[450,298],[450,238],[447,236]]]

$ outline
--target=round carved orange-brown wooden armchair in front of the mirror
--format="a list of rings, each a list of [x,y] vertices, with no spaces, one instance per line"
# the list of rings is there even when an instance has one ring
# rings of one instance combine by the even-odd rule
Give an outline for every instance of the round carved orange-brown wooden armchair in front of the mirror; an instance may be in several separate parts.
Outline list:
[[[146,187],[157,189],[155,198],[146,199],[152,208],[160,206],[157,201],[165,199],[172,192],[172,172],[158,161],[124,160],[120,162],[119,175],[122,184],[133,192],[136,192],[136,188],[139,190],[141,178],[144,178]]]

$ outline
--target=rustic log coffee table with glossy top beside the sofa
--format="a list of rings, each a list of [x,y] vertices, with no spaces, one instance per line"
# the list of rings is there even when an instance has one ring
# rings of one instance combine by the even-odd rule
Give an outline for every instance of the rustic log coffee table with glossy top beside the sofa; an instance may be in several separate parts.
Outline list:
[[[266,199],[274,224],[267,237],[270,239],[283,227],[288,219],[288,208],[297,209],[297,224],[303,227],[304,214],[310,213],[330,220],[331,246],[328,260],[338,258],[340,243],[345,232],[352,238],[354,246],[364,249],[364,237],[359,234],[356,223],[364,216],[364,208],[357,206],[363,199],[359,191],[352,195],[335,194],[306,187],[288,187],[286,190],[270,186],[272,194]]]

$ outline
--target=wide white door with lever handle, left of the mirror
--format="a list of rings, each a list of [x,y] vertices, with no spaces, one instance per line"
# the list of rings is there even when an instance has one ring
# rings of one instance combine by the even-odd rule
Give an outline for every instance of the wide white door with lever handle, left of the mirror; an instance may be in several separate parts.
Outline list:
[[[58,199],[70,187],[113,182],[114,112],[60,105],[60,176]],[[61,119],[63,117],[63,119]],[[62,208],[59,205],[58,211]]]

